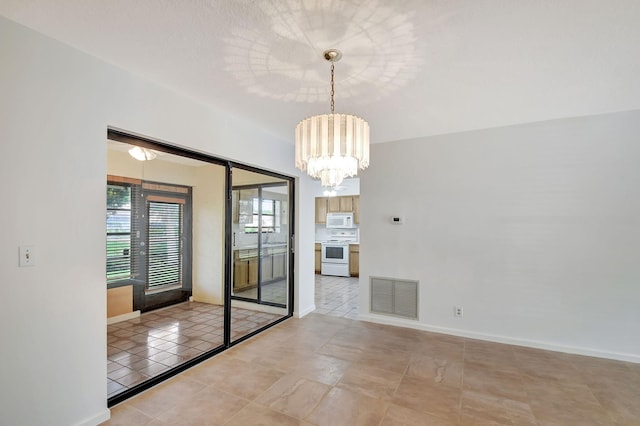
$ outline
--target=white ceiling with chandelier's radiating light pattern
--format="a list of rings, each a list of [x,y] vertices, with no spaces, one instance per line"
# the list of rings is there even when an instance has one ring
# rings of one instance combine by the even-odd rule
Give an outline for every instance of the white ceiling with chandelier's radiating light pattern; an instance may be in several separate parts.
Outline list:
[[[638,0],[0,0],[0,14],[293,141],[373,142],[640,108]]]

